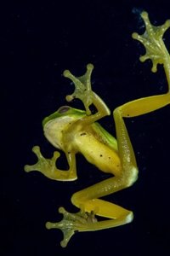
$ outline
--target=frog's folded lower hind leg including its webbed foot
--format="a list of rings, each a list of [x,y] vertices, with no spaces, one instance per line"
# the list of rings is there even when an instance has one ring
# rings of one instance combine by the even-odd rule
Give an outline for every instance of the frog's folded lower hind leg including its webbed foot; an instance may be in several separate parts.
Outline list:
[[[108,195],[127,186],[120,178],[111,177],[103,182],[83,189],[71,197],[71,202],[80,212],[66,212],[63,207],[59,212],[63,214],[63,219],[58,223],[48,222],[48,229],[60,229],[63,232],[64,239],[61,246],[66,247],[71,236],[77,231],[94,231],[113,228],[122,224],[127,224],[133,220],[133,212],[119,207],[108,201],[97,199],[101,195]],[[96,216],[105,217],[104,220],[97,220]]]

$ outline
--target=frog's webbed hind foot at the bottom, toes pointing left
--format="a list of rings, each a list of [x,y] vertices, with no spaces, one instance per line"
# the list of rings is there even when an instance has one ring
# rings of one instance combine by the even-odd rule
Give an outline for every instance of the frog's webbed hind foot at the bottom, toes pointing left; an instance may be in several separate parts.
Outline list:
[[[64,239],[60,242],[61,247],[66,247],[71,236],[77,232],[92,230],[91,225],[97,222],[94,212],[66,212],[65,208],[59,207],[59,212],[63,214],[63,219],[58,223],[46,223],[46,228],[59,229],[63,232]]]

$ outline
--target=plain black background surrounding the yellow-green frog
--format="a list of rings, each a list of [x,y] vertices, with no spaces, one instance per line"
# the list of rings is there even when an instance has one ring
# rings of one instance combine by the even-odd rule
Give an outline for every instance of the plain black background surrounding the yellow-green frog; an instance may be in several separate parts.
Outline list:
[[[1,8],[1,218],[0,253],[7,255],[169,255],[170,108],[135,119],[127,129],[139,165],[132,188],[107,196],[134,212],[132,224],[71,238],[59,246],[62,233],[46,230],[47,220],[59,220],[58,207],[76,212],[71,195],[105,178],[77,155],[79,179],[59,183],[38,172],[27,174],[25,164],[36,161],[33,145],[50,157],[54,148],[42,133],[42,119],[65,105],[73,86],[61,74],[68,68],[82,75],[94,63],[94,91],[109,108],[142,96],[167,91],[162,67],[150,72],[141,63],[144,48],[131,38],[144,32],[139,12],[161,25],[170,19],[169,1],[6,1]],[[170,32],[165,43],[170,49]],[[72,106],[82,108],[79,102]],[[115,135],[112,117],[103,119]],[[59,166],[65,168],[64,156]],[[2,240],[3,238],[3,240]]]

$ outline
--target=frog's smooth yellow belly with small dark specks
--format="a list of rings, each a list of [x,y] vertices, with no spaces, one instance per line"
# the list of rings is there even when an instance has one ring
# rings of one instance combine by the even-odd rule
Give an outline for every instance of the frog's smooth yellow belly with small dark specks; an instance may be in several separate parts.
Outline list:
[[[114,175],[120,175],[122,166],[118,154],[104,143],[100,143],[93,136],[80,136],[75,140],[77,151],[93,165],[97,166],[103,172],[110,172]]]

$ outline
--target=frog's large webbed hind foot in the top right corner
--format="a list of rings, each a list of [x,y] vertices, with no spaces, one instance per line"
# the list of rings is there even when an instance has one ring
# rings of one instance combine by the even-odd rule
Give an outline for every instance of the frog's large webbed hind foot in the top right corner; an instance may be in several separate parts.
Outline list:
[[[146,53],[140,57],[140,61],[150,59],[153,63],[151,71],[156,73],[157,64],[167,65],[167,63],[169,63],[169,54],[162,37],[170,27],[170,20],[167,20],[162,26],[153,26],[150,24],[146,12],[142,12],[141,17],[144,20],[145,32],[143,35],[134,32],[132,36],[134,39],[137,39],[140,43],[144,44],[146,49]]]

